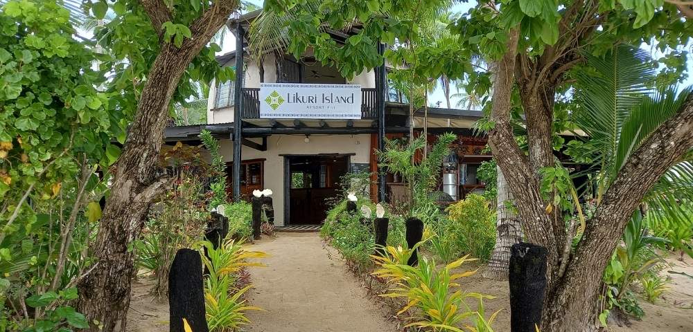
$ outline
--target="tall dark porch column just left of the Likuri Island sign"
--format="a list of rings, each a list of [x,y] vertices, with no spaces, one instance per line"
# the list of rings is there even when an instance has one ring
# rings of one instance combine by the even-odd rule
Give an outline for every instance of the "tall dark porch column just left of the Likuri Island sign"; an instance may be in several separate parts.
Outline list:
[[[240,147],[243,145],[243,27],[236,22],[236,84],[234,86],[234,201],[240,199]]]

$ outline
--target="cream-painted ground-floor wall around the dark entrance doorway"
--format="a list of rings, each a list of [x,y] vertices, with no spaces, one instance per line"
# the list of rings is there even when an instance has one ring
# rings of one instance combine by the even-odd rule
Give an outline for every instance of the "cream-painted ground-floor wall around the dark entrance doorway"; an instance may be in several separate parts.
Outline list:
[[[265,187],[274,193],[274,224],[284,225],[284,157],[280,154],[356,154],[351,163],[369,163],[371,136],[362,135],[272,135],[267,138],[267,151],[243,146],[243,160],[265,158]],[[234,142],[220,140],[220,152],[225,161],[233,160]]]

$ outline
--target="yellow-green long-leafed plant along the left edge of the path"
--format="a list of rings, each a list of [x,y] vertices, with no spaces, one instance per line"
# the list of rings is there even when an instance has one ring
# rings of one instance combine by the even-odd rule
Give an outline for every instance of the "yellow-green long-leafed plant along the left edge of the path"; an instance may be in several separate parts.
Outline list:
[[[247,259],[260,259],[267,257],[267,254],[246,250],[243,248],[243,243],[233,239],[223,241],[216,249],[209,241],[203,241],[202,246],[207,249],[209,256],[207,258],[202,255],[204,266],[207,266],[209,270],[204,290],[209,331],[236,331],[243,324],[250,322],[245,316],[247,311],[263,310],[257,306],[247,305],[246,300],[241,298],[243,293],[252,288],[252,285],[240,289],[234,288],[236,274],[247,266],[264,266]]]

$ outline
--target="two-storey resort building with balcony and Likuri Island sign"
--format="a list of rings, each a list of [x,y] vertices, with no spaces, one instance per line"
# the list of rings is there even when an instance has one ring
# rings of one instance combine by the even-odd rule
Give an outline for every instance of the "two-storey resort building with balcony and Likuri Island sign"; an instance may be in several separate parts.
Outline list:
[[[195,145],[202,129],[211,131],[227,162],[229,196],[243,199],[253,190],[271,189],[279,226],[322,223],[326,199],[338,194],[340,177],[347,172],[373,173],[372,200],[403,201],[401,179],[376,175],[374,151],[383,148],[384,138],[407,136],[410,130],[409,104],[388,84],[387,65],[347,80],[317,62],[310,50],[300,59],[267,54],[256,63],[244,48],[248,26],[259,13],[229,21],[236,50],[217,59],[220,66],[235,67],[236,80],[211,87],[207,124],[169,127],[166,141]],[[337,42],[349,36],[328,33]],[[380,48],[383,52],[385,46]],[[481,111],[437,107],[414,115],[416,135],[427,124],[429,142],[438,133],[458,136],[439,187],[448,199],[483,190],[476,169],[491,156],[483,151],[486,139],[472,130],[481,116]]]

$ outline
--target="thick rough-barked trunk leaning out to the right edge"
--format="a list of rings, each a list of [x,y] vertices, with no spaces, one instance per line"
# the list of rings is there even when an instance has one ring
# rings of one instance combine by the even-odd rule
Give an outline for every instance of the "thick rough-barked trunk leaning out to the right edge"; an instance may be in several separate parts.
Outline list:
[[[599,283],[640,201],[653,185],[693,147],[693,95],[676,116],[644,140],[606,190],[568,270],[547,295],[542,331],[597,329]]]

